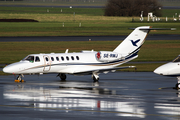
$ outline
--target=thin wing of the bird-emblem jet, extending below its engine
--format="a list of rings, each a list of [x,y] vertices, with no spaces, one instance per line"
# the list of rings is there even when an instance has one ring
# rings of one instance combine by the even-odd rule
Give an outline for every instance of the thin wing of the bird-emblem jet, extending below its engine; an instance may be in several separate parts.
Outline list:
[[[96,69],[92,71],[83,71],[83,72],[77,72],[74,74],[92,74],[92,73],[108,73],[108,72],[115,72],[119,69],[126,69],[126,68],[134,68],[135,66],[124,66],[124,67],[114,67],[114,68],[107,68],[107,69]]]

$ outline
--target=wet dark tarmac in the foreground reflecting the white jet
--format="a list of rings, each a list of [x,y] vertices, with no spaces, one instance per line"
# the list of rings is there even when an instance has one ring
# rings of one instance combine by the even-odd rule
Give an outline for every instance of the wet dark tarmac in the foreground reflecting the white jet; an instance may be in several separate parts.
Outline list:
[[[90,75],[0,76],[0,116],[8,120],[129,120],[180,119],[180,95],[173,89],[177,80],[153,72]]]

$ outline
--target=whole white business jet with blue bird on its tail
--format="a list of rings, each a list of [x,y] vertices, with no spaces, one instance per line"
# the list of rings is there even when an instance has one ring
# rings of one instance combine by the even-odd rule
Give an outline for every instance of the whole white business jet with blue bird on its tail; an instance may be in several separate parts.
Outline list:
[[[19,75],[22,81],[24,74],[57,73],[61,80],[66,74],[88,75],[93,80],[99,80],[100,73],[115,72],[117,69],[134,66],[117,67],[138,57],[138,51],[145,41],[150,26],[137,27],[113,51],[82,51],[80,53],[31,54],[20,62],[6,66],[5,73]]]

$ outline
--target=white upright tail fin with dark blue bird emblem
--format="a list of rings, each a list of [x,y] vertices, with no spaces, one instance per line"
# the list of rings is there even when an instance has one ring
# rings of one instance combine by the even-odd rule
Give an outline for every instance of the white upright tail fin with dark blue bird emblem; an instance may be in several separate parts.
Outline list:
[[[150,26],[137,27],[113,52],[123,55],[138,52],[150,30]]]

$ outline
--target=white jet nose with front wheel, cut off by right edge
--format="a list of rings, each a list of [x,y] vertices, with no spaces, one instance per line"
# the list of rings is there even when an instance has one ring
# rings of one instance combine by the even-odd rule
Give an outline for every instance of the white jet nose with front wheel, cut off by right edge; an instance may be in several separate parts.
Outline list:
[[[172,62],[166,63],[154,70],[154,73],[164,76],[177,77],[176,89],[180,88],[180,55]]]

